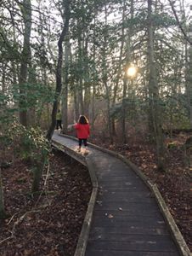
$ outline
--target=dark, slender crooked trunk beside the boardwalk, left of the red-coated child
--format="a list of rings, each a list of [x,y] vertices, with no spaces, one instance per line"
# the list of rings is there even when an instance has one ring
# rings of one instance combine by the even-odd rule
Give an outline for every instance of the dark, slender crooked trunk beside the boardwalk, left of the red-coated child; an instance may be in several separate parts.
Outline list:
[[[56,114],[58,110],[58,99],[62,89],[62,79],[61,79],[61,69],[63,63],[63,42],[69,30],[69,21],[70,21],[70,0],[63,0],[65,5],[65,25],[63,30],[60,34],[59,41],[58,41],[58,63],[56,69],[56,89],[55,89],[55,96],[54,96],[54,106],[52,110],[52,122],[48,129],[47,138],[51,140],[54,134],[54,127],[56,125]]]

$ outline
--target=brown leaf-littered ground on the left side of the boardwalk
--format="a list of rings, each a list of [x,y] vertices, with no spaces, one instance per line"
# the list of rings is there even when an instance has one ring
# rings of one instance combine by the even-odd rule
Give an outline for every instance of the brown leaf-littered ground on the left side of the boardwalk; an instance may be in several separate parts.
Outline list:
[[[8,218],[0,221],[1,256],[74,255],[92,191],[88,170],[58,151],[48,169],[46,193],[33,198],[25,161],[3,169]]]

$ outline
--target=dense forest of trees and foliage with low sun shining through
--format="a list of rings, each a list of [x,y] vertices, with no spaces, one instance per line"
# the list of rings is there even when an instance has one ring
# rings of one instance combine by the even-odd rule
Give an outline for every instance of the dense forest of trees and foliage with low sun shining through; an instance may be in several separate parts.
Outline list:
[[[191,12],[187,0],[0,1],[1,167],[14,148],[31,161],[38,191],[58,109],[62,133],[85,114],[93,143],[150,143],[161,175],[183,132],[192,166]]]

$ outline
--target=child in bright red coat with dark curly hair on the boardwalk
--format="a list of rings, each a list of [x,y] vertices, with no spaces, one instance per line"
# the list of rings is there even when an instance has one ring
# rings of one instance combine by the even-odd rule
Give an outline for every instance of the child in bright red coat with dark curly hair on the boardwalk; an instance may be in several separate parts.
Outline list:
[[[85,153],[88,153],[88,151],[87,151],[87,146],[88,146],[87,140],[88,140],[88,137],[90,135],[90,126],[88,124],[88,119],[84,115],[80,115],[80,117],[78,119],[78,122],[75,125],[75,129],[76,129],[77,138],[79,139],[78,151],[79,152],[81,151],[82,141],[83,141],[83,144],[84,144],[85,150],[86,150]]]

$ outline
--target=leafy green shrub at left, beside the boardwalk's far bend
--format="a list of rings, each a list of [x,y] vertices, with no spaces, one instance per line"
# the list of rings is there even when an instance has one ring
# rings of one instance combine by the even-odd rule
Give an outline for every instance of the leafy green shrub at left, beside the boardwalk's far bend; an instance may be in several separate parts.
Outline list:
[[[48,154],[50,145],[42,130],[39,127],[30,127],[20,125],[14,121],[8,128],[8,137],[15,154],[19,154],[24,160],[29,160],[32,165],[33,183],[32,193],[37,192],[42,177],[44,166],[48,163]]]

